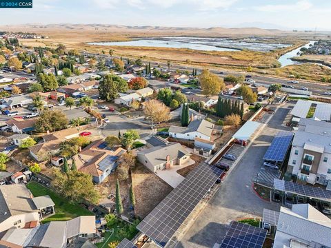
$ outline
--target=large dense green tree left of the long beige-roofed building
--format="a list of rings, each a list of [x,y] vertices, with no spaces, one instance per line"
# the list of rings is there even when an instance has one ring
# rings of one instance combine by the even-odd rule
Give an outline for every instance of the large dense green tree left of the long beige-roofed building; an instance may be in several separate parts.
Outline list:
[[[119,96],[119,92],[127,92],[128,83],[121,77],[108,74],[99,83],[99,96],[106,101],[112,101]]]

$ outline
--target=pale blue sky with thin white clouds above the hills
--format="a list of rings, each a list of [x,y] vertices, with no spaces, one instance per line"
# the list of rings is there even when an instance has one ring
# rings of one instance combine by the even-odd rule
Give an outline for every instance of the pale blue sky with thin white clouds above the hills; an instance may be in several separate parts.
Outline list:
[[[330,0],[33,0],[33,6],[0,9],[0,25],[105,23],[331,30]]]

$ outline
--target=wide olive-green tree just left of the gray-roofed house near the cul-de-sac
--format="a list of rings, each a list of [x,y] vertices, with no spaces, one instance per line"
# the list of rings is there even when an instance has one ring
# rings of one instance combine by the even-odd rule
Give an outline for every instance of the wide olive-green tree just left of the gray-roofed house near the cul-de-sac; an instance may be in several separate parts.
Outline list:
[[[54,132],[63,130],[68,125],[68,118],[60,110],[47,110],[41,113],[34,124],[37,132]]]

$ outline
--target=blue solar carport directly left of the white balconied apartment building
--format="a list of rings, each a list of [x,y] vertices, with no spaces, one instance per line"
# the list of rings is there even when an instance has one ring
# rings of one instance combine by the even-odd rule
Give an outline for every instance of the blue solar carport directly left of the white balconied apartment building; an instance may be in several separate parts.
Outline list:
[[[267,152],[265,152],[263,159],[266,161],[283,162],[288,153],[292,138],[292,132],[278,132]]]

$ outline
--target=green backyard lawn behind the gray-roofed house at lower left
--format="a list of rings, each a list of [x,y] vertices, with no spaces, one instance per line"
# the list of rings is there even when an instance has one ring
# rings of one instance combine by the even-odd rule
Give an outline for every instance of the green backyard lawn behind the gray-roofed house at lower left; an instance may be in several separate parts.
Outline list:
[[[48,189],[37,182],[30,182],[26,187],[30,189],[34,197],[48,195],[55,203],[55,214],[43,220],[43,223],[48,223],[53,220],[71,220],[78,216],[93,215],[88,209],[74,203],[69,203],[66,198],[59,196],[51,189]]]

